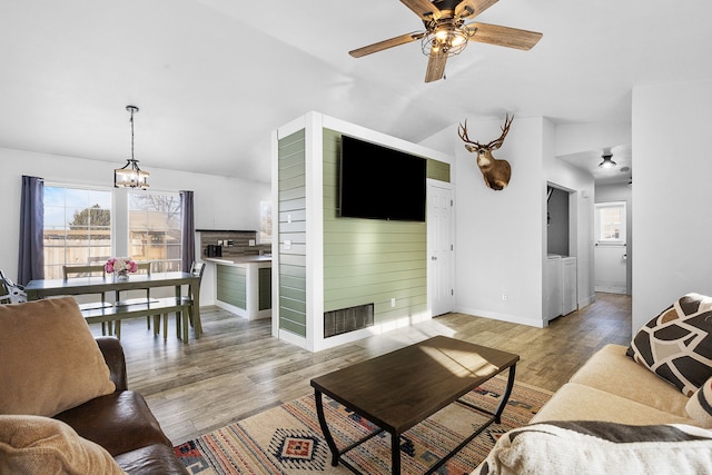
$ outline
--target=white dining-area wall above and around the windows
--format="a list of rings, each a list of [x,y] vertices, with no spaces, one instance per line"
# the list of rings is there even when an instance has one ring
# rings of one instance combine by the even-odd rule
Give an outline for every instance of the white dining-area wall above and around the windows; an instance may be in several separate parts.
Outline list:
[[[151,189],[162,191],[194,190],[195,225],[197,229],[259,229],[259,201],[269,200],[270,187],[236,178],[184,171],[155,169],[141,162],[151,174]],[[113,169],[123,164],[87,160],[49,154],[0,148],[0,269],[17,279],[20,239],[20,191],[22,175],[44,178],[46,182],[61,182],[93,187],[113,187]],[[196,249],[199,256],[199,249]],[[211,278],[204,275],[204,285]],[[201,295],[212,295],[205,288]],[[209,304],[210,301],[205,301]]]

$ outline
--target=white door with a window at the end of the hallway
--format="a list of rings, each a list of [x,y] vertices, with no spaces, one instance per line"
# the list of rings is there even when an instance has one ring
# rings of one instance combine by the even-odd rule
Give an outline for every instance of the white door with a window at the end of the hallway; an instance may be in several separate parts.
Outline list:
[[[625,294],[627,289],[625,202],[595,205],[596,243],[593,253],[595,290]]]

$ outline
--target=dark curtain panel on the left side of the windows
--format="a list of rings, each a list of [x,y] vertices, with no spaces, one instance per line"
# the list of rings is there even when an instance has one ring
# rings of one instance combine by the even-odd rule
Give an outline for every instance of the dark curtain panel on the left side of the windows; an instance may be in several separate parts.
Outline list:
[[[27,285],[44,278],[44,181],[39,177],[22,176],[20,199],[20,251],[18,283]]]

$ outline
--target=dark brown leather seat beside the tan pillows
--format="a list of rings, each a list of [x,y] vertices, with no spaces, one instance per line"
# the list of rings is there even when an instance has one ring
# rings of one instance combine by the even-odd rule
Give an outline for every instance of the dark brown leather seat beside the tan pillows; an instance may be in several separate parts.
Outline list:
[[[129,474],[187,474],[144,397],[128,389],[126,359],[115,337],[97,337],[116,392],[57,414],[80,436],[106,448]]]

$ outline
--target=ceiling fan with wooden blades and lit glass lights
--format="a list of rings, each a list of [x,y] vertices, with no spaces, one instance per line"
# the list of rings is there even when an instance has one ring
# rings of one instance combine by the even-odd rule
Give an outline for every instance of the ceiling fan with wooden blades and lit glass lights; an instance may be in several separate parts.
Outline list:
[[[350,56],[360,58],[388,48],[423,40],[423,53],[429,57],[425,82],[432,82],[445,76],[447,58],[464,50],[467,41],[530,50],[542,38],[542,33],[497,24],[476,22],[465,24],[467,19],[478,16],[497,0],[400,0],[400,2],[421,17],[425,24],[425,31],[414,31],[378,41],[349,51]]]

